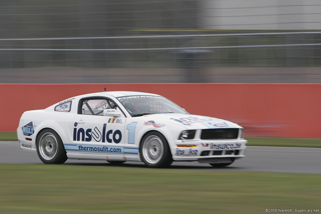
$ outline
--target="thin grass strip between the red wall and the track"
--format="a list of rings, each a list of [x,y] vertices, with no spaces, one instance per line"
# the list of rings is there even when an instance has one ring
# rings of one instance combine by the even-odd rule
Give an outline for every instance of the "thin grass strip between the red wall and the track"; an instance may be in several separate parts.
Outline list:
[[[317,138],[268,138],[248,137],[247,146],[273,146],[273,147],[321,147],[321,139]],[[16,132],[0,132],[0,141],[17,141]]]

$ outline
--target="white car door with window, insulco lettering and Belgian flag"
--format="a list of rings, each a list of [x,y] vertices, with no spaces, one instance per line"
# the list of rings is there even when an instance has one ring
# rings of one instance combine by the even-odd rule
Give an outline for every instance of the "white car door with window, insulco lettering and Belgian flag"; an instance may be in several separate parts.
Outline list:
[[[83,154],[117,156],[124,154],[125,121],[123,117],[103,116],[104,109],[117,105],[108,98],[90,97],[80,100],[73,120],[72,141]]]

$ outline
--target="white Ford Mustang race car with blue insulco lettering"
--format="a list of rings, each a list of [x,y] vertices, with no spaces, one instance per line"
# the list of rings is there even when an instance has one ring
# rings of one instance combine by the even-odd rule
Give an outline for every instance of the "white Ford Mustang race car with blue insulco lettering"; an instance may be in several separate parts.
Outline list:
[[[106,90],[24,112],[17,135],[46,164],[69,158],[152,168],[172,161],[227,166],[244,157],[247,143],[238,124],[189,114],[157,94]]]

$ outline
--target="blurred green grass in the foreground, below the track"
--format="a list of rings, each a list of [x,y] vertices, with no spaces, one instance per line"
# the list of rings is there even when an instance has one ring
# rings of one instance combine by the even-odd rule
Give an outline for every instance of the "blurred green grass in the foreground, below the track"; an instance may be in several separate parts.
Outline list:
[[[265,213],[319,209],[321,175],[0,164],[1,213]]]

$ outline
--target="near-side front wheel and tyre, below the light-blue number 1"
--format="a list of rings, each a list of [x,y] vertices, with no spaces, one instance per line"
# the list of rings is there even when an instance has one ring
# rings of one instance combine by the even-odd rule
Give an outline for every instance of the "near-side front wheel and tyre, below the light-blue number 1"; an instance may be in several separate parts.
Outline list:
[[[151,131],[143,137],[140,155],[150,168],[165,168],[173,162],[166,138],[157,131]]]

